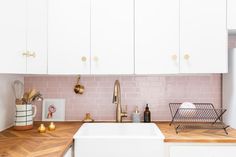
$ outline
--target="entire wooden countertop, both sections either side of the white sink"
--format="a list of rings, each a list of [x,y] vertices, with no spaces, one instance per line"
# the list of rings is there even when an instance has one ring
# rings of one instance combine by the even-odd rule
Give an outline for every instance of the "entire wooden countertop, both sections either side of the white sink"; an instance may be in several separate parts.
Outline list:
[[[82,125],[81,122],[57,122],[55,131],[38,133],[40,123],[34,124],[29,131],[15,131],[9,128],[0,132],[0,157],[63,157],[73,144],[73,135]],[[236,130],[188,130],[175,133],[168,123],[156,123],[165,136],[165,142],[198,142],[198,143],[235,143]]]

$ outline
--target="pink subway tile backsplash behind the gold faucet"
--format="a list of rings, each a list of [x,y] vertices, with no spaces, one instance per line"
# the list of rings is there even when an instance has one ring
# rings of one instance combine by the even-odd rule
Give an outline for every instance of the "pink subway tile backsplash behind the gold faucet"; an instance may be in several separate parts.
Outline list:
[[[204,76],[82,76],[83,95],[76,95],[75,76],[25,77],[25,90],[36,88],[44,98],[66,99],[66,120],[82,120],[90,112],[95,120],[115,120],[112,104],[113,85],[120,80],[122,105],[128,106],[129,116],[135,106],[143,112],[150,104],[153,120],[170,120],[168,104],[171,102],[210,102],[221,106],[220,75]],[[41,104],[37,103],[36,120],[41,120]]]

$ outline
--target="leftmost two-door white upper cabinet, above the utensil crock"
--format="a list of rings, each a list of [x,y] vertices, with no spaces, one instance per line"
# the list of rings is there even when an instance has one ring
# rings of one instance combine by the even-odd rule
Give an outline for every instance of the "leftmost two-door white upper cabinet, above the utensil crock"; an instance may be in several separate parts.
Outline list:
[[[0,1],[0,72],[47,73],[47,1]]]

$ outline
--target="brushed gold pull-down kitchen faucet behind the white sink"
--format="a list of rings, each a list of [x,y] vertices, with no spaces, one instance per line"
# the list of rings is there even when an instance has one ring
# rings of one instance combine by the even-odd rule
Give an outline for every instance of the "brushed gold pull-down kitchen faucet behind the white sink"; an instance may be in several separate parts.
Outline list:
[[[121,108],[121,91],[120,91],[120,82],[119,80],[115,81],[114,92],[113,92],[113,101],[116,104],[116,122],[122,122],[123,117],[127,117],[126,112],[122,112]]]

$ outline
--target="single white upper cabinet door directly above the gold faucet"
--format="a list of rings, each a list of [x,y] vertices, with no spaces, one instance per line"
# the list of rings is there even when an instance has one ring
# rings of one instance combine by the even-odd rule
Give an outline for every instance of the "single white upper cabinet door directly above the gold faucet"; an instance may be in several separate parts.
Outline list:
[[[91,2],[91,73],[133,74],[133,0]]]

